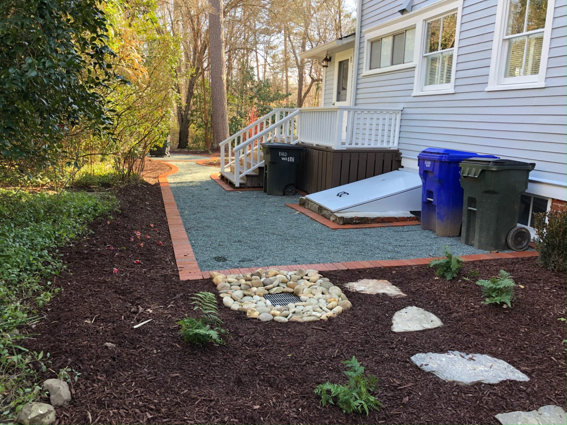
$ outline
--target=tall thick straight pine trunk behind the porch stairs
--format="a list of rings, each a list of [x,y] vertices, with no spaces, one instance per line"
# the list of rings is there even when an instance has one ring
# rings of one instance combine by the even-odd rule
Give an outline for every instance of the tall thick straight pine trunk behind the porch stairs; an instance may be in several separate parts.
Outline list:
[[[220,0],[209,0],[209,62],[213,142],[211,148],[229,137],[229,112],[226,104],[225,44],[223,42]]]

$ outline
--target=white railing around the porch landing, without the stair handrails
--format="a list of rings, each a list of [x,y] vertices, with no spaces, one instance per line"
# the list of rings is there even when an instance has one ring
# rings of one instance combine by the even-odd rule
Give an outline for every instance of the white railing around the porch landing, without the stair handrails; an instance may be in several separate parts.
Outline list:
[[[299,141],[333,149],[397,148],[401,109],[299,109]]]

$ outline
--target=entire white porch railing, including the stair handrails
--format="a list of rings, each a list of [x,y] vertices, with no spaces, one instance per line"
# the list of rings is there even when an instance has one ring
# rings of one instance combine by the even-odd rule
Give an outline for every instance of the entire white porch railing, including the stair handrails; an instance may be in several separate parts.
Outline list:
[[[219,145],[221,174],[240,180],[263,167],[261,143],[284,142],[333,149],[396,148],[401,109],[324,107],[274,109]],[[232,172],[234,168],[234,173]]]

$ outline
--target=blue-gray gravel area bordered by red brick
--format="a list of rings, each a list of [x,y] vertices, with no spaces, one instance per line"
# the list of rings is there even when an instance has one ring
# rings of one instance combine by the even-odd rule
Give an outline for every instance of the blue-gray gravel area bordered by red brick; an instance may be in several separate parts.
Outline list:
[[[285,206],[299,196],[226,192],[211,167],[176,165],[168,180],[201,270],[434,257],[445,245],[453,254],[485,253],[419,226],[331,230]]]

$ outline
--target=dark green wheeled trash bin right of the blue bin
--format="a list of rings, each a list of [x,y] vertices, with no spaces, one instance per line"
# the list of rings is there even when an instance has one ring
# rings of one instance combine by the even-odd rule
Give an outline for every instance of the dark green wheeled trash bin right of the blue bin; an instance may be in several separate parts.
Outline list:
[[[522,251],[530,231],[518,226],[520,196],[534,163],[467,159],[459,164],[463,198],[463,244],[476,249]]]

